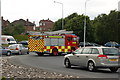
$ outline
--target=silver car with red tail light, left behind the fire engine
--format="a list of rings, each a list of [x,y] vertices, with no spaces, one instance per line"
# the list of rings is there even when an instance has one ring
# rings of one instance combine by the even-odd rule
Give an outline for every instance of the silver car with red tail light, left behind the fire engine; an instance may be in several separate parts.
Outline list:
[[[8,46],[8,49],[10,49],[11,53],[18,53],[19,55],[22,54],[29,54],[28,48],[24,47],[22,44],[11,44]]]

